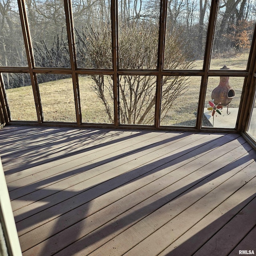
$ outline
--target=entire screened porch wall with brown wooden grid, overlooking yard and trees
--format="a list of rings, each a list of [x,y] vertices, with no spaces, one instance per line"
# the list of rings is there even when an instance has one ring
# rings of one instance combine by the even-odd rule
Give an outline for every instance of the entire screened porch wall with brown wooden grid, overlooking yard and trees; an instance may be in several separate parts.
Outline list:
[[[1,113],[7,123],[244,129],[255,9],[255,0],[0,0]],[[228,90],[213,94],[222,80]]]

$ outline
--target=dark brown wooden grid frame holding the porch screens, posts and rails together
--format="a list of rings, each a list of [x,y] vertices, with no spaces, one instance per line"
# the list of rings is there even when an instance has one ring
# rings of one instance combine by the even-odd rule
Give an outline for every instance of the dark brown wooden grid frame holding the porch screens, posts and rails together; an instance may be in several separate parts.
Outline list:
[[[157,68],[154,70],[144,69],[144,70],[132,70],[132,69],[119,69],[118,68],[118,0],[111,0],[111,26],[112,26],[112,60],[113,66],[111,69],[93,69],[93,68],[78,68],[76,63],[76,48],[75,48],[75,36],[74,36],[74,24],[72,18],[72,2],[71,0],[64,0],[64,9],[66,14],[66,26],[68,34],[68,45],[70,52],[70,68],[44,68],[36,67],[34,61],[34,54],[32,48],[32,40],[30,36],[30,30],[28,26],[28,16],[26,13],[26,7],[24,0],[18,0],[18,7],[20,11],[20,19],[22,32],[24,36],[24,43],[26,48],[26,55],[28,60],[28,67],[5,67],[0,66],[0,103],[1,112],[0,118],[1,122],[6,124],[38,124],[38,125],[72,125],[72,126],[94,126],[94,127],[126,127],[126,128],[150,128],[150,129],[162,129],[162,130],[195,130],[195,131],[229,131],[229,132],[246,132],[248,122],[250,119],[250,108],[252,108],[253,100],[248,100],[248,97],[252,94],[254,90],[254,80],[253,74],[256,73],[256,33],[254,28],[254,36],[252,40],[252,45],[250,49],[250,55],[248,59],[248,65],[246,70],[210,70],[210,59],[212,52],[212,45],[214,40],[214,29],[216,26],[218,5],[219,0],[212,0],[210,7],[210,18],[208,23],[208,31],[206,36],[206,46],[204,53],[204,62],[202,70],[165,70],[164,69],[164,41],[165,41],[165,31],[166,31],[166,19],[167,19],[167,8],[168,0],[160,1],[160,21],[159,21],[159,40],[158,40],[158,61]],[[2,78],[2,72],[20,72],[30,74],[32,89],[34,95],[34,103],[36,106],[37,122],[30,121],[13,121],[10,119],[10,110],[4,91],[4,82]],[[44,122],[42,104],[40,99],[40,92],[36,74],[70,74],[72,76],[73,92],[74,92],[74,102],[76,110],[76,124],[65,123],[65,122]],[[114,124],[85,124],[82,122],[81,104],[80,104],[80,91],[78,75],[91,75],[91,74],[102,74],[111,75],[113,77],[113,94],[114,94]],[[122,75],[152,75],[156,76],[156,104],[155,104],[155,120],[154,125],[137,125],[137,124],[120,124],[119,122],[119,108],[118,108],[118,81],[119,76]],[[160,125],[160,106],[161,106],[161,83],[163,76],[200,76],[201,86],[198,102],[198,111],[196,118],[196,125],[190,126],[161,126]],[[202,119],[204,115],[204,102],[206,97],[206,84],[208,77],[210,76],[239,76],[244,77],[244,86],[242,89],[241,103],[238,111],[238,118],[236,122],[236,128],[213,128],[213,127],[202,127]],[[243,113],[243,114],[241,114]],[[246,113],[246,114],[244,114]],[[247,126],[245,125],[247,124]]]

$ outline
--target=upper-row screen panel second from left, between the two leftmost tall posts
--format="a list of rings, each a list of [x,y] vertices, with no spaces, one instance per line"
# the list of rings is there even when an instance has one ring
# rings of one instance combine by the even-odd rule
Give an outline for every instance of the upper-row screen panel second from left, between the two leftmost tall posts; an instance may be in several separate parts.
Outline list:
[[[69,68],[64,1],[26,1],[26,8],[36,66]]]

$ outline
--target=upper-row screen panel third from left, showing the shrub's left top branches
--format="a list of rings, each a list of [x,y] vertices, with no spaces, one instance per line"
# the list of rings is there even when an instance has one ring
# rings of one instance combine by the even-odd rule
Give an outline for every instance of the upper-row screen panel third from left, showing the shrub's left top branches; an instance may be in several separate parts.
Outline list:
[[[78,68],[112,69],[110,2],[72,0]]]

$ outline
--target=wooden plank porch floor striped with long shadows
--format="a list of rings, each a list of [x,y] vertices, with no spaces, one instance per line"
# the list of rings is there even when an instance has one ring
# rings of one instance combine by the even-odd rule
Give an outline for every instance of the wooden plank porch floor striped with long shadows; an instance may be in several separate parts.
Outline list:
[[[24,256],[256,254],[256,152],[240,134],[0,130]]]

